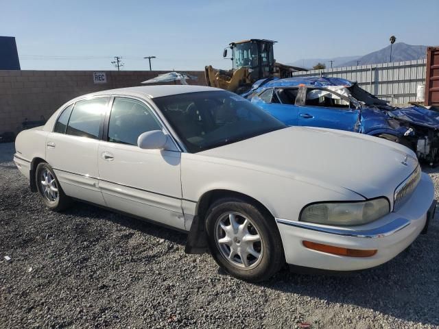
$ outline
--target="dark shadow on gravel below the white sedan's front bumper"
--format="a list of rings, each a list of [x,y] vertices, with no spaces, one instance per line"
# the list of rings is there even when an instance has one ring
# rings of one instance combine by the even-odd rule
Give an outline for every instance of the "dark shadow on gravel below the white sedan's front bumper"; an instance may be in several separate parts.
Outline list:
[[[322,301],[370,308],[405,321],[439,325],[439,279],[435,227],[390,262],[364,271],[302,274],[287,269],[264,287]]]

